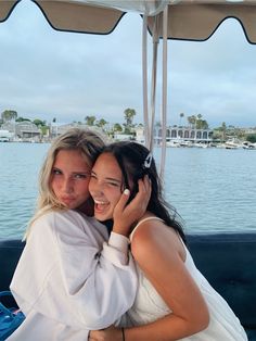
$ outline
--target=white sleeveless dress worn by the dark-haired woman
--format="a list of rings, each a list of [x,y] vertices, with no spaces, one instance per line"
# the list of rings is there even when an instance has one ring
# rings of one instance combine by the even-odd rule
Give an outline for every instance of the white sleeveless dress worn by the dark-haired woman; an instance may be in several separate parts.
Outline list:
[[[142,219],[133,229],[130,235],[145,220],[156,219],[162,220],[158,217],[148,217]],[[184,244],[183,244],[184,245]],[[184,265],[197,283],[201,292],[207,303],[209,310],[210,321],[208,327],[191,337],[184,338],[185,341],[244,341],[247,340],[247,336],[240,324],[240,320],[234,315],[228,303],[221,298],[215,289],[208,283],[205,277],[196,268],[191,254],[185,248],[185,262]],[[139,276],[139,288],[136,296],[136,301],[132,307],[127,313],[126,327],[140,326],[152,323],[157,318],[161,318],[171,311],[166,305],[164,300],[146,279],[143,271],[137,264],[137,270]]]

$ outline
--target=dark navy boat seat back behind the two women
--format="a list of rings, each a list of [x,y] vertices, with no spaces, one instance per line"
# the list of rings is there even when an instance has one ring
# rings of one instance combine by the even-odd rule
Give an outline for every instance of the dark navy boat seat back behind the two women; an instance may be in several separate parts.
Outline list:
[[[188,247],[199,269],[240,318],[248,340],[256,341],[256,232],[189,235]],[[0,240],[1,291],[9,289],[23,248],[21,240]]]

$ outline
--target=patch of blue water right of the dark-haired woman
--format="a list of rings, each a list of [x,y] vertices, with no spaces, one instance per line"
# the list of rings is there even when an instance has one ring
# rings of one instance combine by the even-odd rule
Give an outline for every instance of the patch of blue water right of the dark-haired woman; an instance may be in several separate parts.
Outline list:
[[[256,230],[256,151],[169,149],[166,198],[187,230]]]

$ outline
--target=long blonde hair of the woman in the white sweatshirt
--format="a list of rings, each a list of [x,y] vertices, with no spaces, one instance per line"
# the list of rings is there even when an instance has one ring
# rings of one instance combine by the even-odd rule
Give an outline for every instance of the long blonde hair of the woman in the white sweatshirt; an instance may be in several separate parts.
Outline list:
[[[54,139],[39,173],[37,207],[28,224],[24,240],[29,236],[31,225],[38,217],[52,210],[66,210],[66,206],[57,200],[51,188],[52,167],[57,152],[60,150],[79,150],[88,165],[92,166],[104,146],[101,136],[92,130],[81,128],[71,128]]]

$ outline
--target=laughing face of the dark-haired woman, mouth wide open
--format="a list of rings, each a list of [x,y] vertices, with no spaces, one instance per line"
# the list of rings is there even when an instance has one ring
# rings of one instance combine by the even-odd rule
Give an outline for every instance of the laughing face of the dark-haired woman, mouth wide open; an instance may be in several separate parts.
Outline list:
[[[94,200],[95,218],[100,222],[112,219],[121,195],[123,176],[116,159],[111,153],[103,153],[97,159],[89,190]]]

